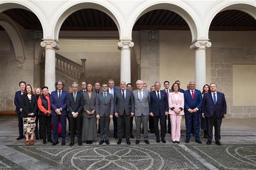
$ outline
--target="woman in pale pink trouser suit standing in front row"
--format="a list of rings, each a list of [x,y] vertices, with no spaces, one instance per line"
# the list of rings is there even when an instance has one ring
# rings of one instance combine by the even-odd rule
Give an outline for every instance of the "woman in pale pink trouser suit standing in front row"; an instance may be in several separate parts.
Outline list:
[[[179,143],[180,138],[180,123],[184,115],[184,95],[179,92],[178,83],[173,83],[171,86],[173,92],[169,92],[169,116],[171,123],[171,141],[172,143]]]

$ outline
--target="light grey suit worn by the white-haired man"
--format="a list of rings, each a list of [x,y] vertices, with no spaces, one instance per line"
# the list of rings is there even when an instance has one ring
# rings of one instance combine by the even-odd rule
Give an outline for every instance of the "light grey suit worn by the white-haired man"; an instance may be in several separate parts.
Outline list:
[[[150,102],[150,94],[147,89],[143,89],[143,97],[140,101],[138,96],[138,90],[132,91],[134,97],[134,114],[135,114],[135,122],[136,122],[136,140],[140,139],[140,125],[142,122],[142,127],[144,131],[144,140],[148,139],[147,135],[147,124],[149,119],[149,102]]]

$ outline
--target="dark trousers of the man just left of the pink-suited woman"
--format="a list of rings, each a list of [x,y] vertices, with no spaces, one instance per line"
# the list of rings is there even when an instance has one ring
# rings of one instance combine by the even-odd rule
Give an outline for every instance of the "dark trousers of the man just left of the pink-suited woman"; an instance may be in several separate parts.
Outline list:
[[[165,134],[166,134],[166,115],[158,115],[158,116],[153,116],[153,127],[154,127],[154,135],[157,139],[160,137],[164,139]],[[158,121],[160,120],[160,128],[161,128],[161,133],[159,135],[159,129],[158,129]]]

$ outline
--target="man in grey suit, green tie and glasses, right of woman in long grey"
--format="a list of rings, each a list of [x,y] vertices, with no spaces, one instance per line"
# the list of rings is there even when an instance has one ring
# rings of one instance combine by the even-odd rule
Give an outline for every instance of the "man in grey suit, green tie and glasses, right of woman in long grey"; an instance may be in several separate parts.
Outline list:
[[[98,144],[109,144],[109,120],[113,118],[114,99],[113,95],[107,92],[107,83],[102,84],[102,92],[96,98],[96,118],[100,124],[100,138]]]

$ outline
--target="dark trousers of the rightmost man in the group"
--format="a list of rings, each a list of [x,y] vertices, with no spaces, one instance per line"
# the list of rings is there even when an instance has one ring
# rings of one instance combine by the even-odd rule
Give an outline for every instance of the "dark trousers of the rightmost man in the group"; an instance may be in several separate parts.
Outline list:
[[[209,141],[212,140],[212,128],[214,126],[214,138],[215,142],[220,140],[220,125],[222,118],[217,118],[216,113],[214,112],[211,117],[206,117],[207,121],[207,138]]]

